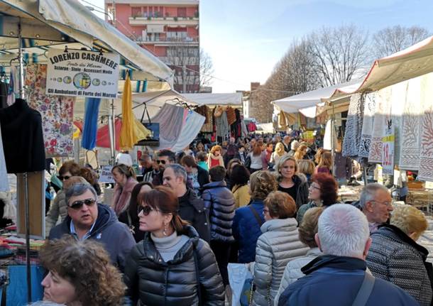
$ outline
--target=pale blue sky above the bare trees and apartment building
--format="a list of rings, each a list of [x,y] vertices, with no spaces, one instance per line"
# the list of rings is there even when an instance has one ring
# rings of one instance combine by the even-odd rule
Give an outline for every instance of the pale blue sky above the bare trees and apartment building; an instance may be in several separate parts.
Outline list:
[[[104,0],[93,0],[104,7]],[[201,0],[201,47],[214,63],[214,92],[265,82],[293,40],[322,26],[355,24],[369,33],[422,26],[433,33],[432,0]]]

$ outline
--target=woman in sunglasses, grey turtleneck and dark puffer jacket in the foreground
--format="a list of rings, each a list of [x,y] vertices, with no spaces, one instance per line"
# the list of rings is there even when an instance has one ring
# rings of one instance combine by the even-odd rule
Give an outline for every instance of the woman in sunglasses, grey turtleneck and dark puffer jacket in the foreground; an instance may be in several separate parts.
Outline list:
[[[140,230],[126,261],[125,283],[134,305],[224,305],[224,286],[209,244],[177,214],[168,187],[141,197]]]

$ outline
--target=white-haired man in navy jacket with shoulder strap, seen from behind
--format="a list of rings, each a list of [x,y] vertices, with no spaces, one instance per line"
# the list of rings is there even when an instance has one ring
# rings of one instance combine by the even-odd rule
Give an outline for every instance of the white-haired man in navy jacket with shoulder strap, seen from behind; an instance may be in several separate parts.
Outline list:
[[[325,255],[301,269],[305,276],[287,287],[278,305],[355,305],[360,297],[365,306],[419,305],[402,289],[366,272],[371,239],[367,219],[359,209],[334,204],[319,217],[318,227],[315,240]]]

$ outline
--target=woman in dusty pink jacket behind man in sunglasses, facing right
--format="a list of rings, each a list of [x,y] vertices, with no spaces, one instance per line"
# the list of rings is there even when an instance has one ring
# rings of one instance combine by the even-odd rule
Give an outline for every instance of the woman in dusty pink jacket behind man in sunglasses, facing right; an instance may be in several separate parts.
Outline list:
[[[131,201],[131,192],[138,182],[136,180],[136,173],[128,165],[115,165],[111,169],[111,174],[113,175],[114,182],[116,182],[111,207],[116,212],[117,217],[119,217],[122,212],[128,209],[129,202]]]

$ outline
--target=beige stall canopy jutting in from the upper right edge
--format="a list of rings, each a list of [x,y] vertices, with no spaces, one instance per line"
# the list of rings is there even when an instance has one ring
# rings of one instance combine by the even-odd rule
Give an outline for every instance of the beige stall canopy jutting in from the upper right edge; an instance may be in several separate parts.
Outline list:
[[[336,89],[329,100],[356,92],[374,92],[429,72],[433,72],[433,36],[410,48],[376,60],[361,84]]]

